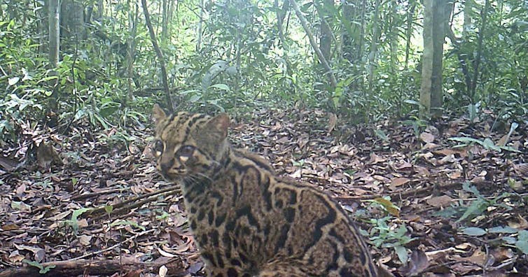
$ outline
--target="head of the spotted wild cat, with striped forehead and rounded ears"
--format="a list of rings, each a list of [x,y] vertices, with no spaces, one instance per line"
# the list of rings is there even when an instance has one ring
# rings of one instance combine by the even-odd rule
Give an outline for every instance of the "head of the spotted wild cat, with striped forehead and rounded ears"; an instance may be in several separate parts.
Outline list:
[[[209,178],[228,150],[229,117],[212,118],[200,113],[167,115],[157,104],[153,109],[153,155],[158,171],[167,180]]]

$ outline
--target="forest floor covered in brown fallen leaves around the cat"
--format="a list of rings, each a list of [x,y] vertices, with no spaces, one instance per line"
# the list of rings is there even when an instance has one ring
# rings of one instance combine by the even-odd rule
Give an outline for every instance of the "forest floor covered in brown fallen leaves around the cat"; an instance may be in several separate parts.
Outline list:
[[[395,276],[526,276],[527,123],[510,132],[481,116],[357,127],[263,110],[236,120],[230,138],[338,199]],[[0,276],[201,276],[151,129],[26,128],[0,155]]]

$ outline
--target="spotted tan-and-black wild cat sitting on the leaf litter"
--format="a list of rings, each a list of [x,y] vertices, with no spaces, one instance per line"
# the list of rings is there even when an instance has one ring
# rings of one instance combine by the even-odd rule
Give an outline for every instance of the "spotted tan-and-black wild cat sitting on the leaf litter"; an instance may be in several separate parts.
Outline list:
[[[156,105],[153,118],[158,170],[182,185],[207,276],[377,276],[342,208],[232,148],[228,115],[166,115]]]

